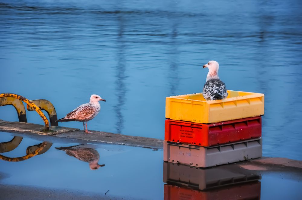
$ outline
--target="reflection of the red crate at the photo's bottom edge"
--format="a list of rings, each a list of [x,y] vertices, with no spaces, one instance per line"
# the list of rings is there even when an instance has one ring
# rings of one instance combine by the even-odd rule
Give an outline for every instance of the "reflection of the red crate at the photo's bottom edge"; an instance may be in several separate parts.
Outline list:
[[[261,195],[261,183],[246,183],[214,190],[199,191],[185,187],[164,185],[164,200],[242,200],[259,199]]]

